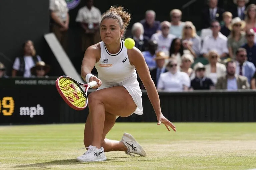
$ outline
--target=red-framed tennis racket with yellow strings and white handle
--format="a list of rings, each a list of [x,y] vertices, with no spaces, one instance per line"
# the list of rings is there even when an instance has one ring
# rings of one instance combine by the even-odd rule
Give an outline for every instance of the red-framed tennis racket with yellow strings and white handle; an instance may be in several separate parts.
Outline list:
[[[88,104],[87,91],[98,83],[92,81],[88,84],[79,83],[68,76],[60,76],[56,80],[56,88],[62,99],[73,109],[83,110]],[[85,87],[85,90],[82,87]]]

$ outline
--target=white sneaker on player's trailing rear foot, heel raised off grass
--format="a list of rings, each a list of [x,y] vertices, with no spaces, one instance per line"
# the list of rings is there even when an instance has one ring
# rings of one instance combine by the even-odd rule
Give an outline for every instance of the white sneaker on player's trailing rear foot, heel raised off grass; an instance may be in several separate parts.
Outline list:
[[[140,146],[140,144],[135,140],[135,138],[131,134],[124,133],[121,142],[128,148],[127,152],[125,152],[127,155],[134,156],[131,153],[135,153],[140,156],[147,156],[144,149]]]

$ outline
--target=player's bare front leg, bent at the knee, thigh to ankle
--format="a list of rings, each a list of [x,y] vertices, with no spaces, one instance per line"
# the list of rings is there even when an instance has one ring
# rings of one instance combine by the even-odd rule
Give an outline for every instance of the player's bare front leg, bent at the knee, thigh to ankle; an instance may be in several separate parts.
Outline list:
[[[101,147],[105,112],[113,116],[127,117],[136,109],[131,95],[123,86],[114,86],[94,91],[88,96],[92,146]]]

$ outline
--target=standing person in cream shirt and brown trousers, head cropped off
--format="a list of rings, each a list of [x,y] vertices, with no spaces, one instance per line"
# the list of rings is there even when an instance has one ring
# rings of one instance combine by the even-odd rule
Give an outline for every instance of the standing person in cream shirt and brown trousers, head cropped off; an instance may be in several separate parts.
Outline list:
[[[52,32],[67,52],[69,14],[65,0],[50,0],[50,15],[53,20]]]

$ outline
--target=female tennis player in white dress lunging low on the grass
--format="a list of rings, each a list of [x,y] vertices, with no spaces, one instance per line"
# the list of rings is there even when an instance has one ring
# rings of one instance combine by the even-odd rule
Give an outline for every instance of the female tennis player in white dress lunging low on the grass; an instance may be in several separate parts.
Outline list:
[[[84,128],[84,145],[87,151],[76,158],[79,162],[104,161],[104,152],[125,151],[126,154],[146,156],[146,152],[128,133],[121,141],[105,138],[114,126],[116,117],[142,115],[142,93],[135,68],[153,105],[158,125],[163,123],[170,131],[175,126],[162,114],[159,96],[142,53],[136,48],[127,49],[124,41],[126,27],[131,20],[123,7],[111,7],[102,15],[100,36],[102,42],[85,51],[82,61],[82,77],[86,82],[97,81],[98,88],[88,96],[89,115]],[[98,78],[91,74],[93,67]],[[133,155],[134,156],[134,155]]]

